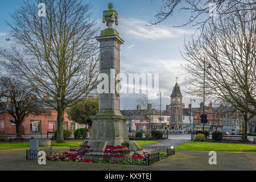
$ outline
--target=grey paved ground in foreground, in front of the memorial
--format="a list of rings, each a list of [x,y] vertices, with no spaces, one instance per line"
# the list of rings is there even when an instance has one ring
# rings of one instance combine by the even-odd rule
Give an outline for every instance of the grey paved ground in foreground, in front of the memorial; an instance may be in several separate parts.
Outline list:
[[[1,150],[0,170],[60,170],[60,171],[170,171],[170,170],[253,170],[254,167],[246,155],[256,158],[256,153],[250,152],[217,152],[217,164],[208,163],[209,155],[206,151],[176,151],[175,155],[160,160],[151,166],[133,166],[124,164],[98,164],[84,162],[53,162],[39,165],[35,160],[26,160],[26,150]]]

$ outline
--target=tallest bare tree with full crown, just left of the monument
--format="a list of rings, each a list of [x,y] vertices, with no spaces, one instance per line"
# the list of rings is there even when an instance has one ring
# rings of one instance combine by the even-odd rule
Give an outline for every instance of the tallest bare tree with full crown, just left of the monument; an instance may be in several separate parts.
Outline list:
[[[46,5],[46,16],[39,16],[38,3]],[[11,53],[0,53],[2,63],[57,110],[57,142],[64,142],[65,108],[97,88],[97,28],[89,10],[81,0],[24,1],[7,23],[13,46]]]

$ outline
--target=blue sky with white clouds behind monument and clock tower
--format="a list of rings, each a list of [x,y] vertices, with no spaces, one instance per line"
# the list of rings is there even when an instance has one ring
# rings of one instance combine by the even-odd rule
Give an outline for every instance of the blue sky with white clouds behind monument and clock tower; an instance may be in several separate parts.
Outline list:
[[[174,27],[185,23],[189,12],[177,10],[172,18],[158,26],[146,26],[154,20],[163,0],[93,0],[92,18],[96,19],[101,30],[105,29],[102,11],[112,2],[118,12],[119,25],[114,28],[119,32],[125,44],[121,46],[121,73],[159,73],[159,92],[162,92],[162,108],[170,104],[170,95],[178,77],[178,84],[183,93],[183,102],[188,107],[190,97],[185,96],[184,77],[186,73],[180,64],[184,63],[180,55],[184,40],[195,32],[195,27]],[[0,49],[7,48],[7,32],[10,28],[5,21],[10,21],[10,14],[18,9],[22,0],[1,0],[0,2]],[[182,4],[180,5],[182,6]],[[139,94],[121,94],[121,108],[135,109]],[[152,103],[159,105],[159,98]],[[200,102],[200,101],[199,101]],[[199,106],[195,102],[193,106]]]

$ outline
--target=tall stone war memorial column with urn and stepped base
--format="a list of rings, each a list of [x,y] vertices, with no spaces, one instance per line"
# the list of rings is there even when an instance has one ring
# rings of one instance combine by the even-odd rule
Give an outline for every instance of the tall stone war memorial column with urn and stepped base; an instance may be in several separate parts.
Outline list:
[[[100,42],[100,73],[108,75],[109,80],[108,92],[99,93],[99,112],[90,117],[93,122],[90,129],[88,155],[103,155],[106,146],[121,146],[123,142],[129,143],[131,151],[141,150],[137,143],[129,140],[127,118],[120,113],[117,86],[120,80],[117,75],[120,73],[120,46],[124,41],[112,27],[114,22],[118,25],[117,15],[112,3],[109,3],[109,10],[104,11],[103,18],[108,28],[102,30],[101,35],[96,37]]]

